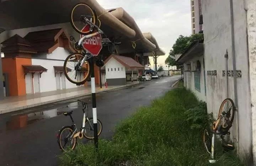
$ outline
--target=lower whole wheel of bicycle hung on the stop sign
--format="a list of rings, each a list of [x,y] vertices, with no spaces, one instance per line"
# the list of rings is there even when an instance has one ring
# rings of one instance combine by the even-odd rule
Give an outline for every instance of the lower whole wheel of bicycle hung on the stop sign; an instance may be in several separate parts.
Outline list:
[[[91,75],[89,62],[85,61],[84,65],[80,67],[83,58],[84,55],[73,53],[65,59],[64,74],[71,83],[82,85]]]

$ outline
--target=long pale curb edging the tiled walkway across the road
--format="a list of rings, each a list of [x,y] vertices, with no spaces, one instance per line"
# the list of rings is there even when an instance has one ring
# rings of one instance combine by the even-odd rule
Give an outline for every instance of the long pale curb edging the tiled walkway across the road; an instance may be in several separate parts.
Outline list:
[[[126,86],[123,86],[123,87],[112,88],[112,89],[97,90],[96,93],[109,92],[109,91],[112,91],[112,90],[123,89],[123,88],[126,88],[126,87],[132,87],[132,86],[136,86],[136,85],[139,85],[139,84],[141,84],[141,83],[134,84],[134,85],[126,85]],[[12,109],[0,110],[0,114],[6,114],[6,113],[9,113],[9,112],[24,110],[24,109],[28,109],[28,108],[32,108],[32,107],[36,107],[36,106],[56,103],[56,102],[59,102],[59,101],[65,101],[65,100],[70,100],[70,99],[75,99],[75,98],[80,98],[80,97],[83,97],[83,96],[90,96],[90,95],[91,95],[91,93],[89,93],[89,94],[82,94],[82,95],[70,96],[70,97],[66,97],[66,98],[62,98],[62,99],[55,99],[55,100],[45,101],[43,103],[36,103],[36,104],[20,106],[20,107],[16,107],[16,108],[12,108]]]

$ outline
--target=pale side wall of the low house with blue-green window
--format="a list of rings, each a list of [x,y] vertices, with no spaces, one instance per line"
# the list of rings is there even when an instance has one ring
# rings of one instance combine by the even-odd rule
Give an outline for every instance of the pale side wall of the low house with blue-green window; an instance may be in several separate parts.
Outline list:
[[[200,61],[201,63],[201,71],[199,71],[200,76],[200,90],[195,88],[194,83],[194,74],[196,70],[196,62]],[[191,71],[187,71],[187,64],[191,64]],[[185,72],[184,72],[184,85],[186,89],[191,90],[199,100],[206,101],[206,93],[204,87],[204,68],[203,68],[203,56],[194,57],[190,61],[184,63]]]

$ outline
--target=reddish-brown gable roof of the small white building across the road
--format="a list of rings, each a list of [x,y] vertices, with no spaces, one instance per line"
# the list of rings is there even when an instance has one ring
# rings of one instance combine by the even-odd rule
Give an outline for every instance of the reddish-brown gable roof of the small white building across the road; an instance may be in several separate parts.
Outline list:
[[[124,67],[129,68],[129,69],[144,69],[144,66],[142,66],[140,63],[135,61],[134,59],[126,56],[119,56],[119,55],[111,55],[108,57],[108,59],[105,60],[105,64],[111,59],[114,58],[117,60],[119,63],[124,65]]]

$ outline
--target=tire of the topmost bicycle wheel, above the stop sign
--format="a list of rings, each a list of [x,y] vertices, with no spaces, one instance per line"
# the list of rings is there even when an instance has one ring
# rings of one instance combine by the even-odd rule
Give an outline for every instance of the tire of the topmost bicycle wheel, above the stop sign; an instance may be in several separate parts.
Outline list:
[[[71,26],[74,28],[74,30],[76,32],[78,32],[79,34],[82,34],[82,35],[87,35],[87,34],[90,34],[91,31],[86,31],[86,32],[82,32],[80,28],[78,28],[76,25],[75,25],[75,20],[73,18],[74,16],[74,11],[75,9],[77,9],[78,6],[81,6],[81,5],[84,5],[85,7],[87,7],[89,9],[89,12],[90,14],[92,15],[92,23],[94,24],[98,24],[98,18],[97,18],[97,14],[95,12],[95,10],[93,10],[89,5],[85,4],[85,3],[79,3],[79,4],[76,4],[72,10],[71,10],[71,13],[70,13],[70,23],[71,23]]]

